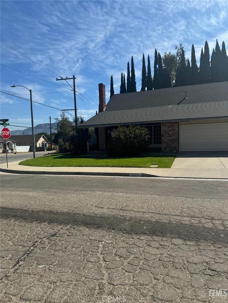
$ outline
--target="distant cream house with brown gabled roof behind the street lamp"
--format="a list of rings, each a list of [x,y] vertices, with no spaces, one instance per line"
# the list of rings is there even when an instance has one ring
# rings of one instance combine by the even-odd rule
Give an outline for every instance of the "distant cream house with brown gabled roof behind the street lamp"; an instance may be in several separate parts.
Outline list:
[[[17,146],[30,146],[29,151],[32,151],[32,135],[12,135],[10,139],[14,140]],[[45,150],[49,143],[44,135],[35,135],[36,151]]]

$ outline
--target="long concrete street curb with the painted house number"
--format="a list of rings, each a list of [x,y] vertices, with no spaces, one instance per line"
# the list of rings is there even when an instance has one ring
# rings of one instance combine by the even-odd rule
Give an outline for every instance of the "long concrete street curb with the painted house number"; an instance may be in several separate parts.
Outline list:
[[[0,168],[1,172],[21,175],[81,175],[81,176],[112,176],[112,177],[149,177],[149,178],[179,178],[179,179],[212,179],[228,180],[228,178],[211,178],[211,177],[172,177],[159,176],[146,173],[127,173],[127,172],[82,172],[82,171],[21,171],[15,169]]]

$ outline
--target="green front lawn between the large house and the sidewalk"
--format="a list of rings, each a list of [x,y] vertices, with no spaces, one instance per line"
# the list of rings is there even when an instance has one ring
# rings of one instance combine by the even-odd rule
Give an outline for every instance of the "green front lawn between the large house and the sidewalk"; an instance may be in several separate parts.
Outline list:
[[[75,156],[73,154],[58,154],[36,159],[28,159],[20,162],[27,166],[87,166],[87,167],[150,167],[158,165],[158,168],[170,168],[175,155],[149,154],[138,157],[123,158],[92,158],[88,156]]]

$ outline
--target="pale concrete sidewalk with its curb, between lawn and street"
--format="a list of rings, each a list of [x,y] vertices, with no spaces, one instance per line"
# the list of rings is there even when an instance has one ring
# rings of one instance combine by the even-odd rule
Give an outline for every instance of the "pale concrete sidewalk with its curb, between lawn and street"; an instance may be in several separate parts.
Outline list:
[[[228,179],[228,169],[213,168],[137,168],[137,167],[35,167],[19,165],[20,161],[0,165],[0,171],[35,175],[100,175],[126,177],[181,177]]]

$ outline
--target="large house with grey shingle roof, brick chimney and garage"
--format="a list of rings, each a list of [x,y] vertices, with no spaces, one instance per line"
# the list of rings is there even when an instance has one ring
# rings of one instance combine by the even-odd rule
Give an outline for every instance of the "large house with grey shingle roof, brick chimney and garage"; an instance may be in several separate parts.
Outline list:
[[[80,127],[95,127],[100,150],[113,128],[139,124],[150,132],[149,147],[163,152],[228,151],[228,82],[116,94],[107,105],[98,86],[99,113]]]

